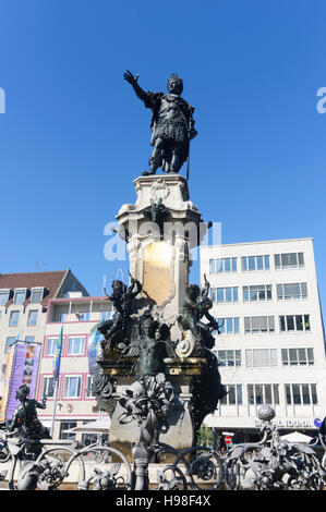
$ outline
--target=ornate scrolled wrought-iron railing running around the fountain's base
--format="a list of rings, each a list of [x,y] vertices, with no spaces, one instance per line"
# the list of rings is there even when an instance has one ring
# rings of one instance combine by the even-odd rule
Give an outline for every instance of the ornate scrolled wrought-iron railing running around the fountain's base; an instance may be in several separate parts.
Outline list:
[[[132,448],[133,468],[121,451],[100,442],[81,448],[68,446],[67,441],[15,437],[17,430],[9,431],[2,425],[0,464],[9,465],[9,471],[0,472],[1,480],[8,479],[11,490],[62,489],[72,477],[79,490],[144,490],[149,488],[149,461],[161,463],[172,456],[173,462],[159,466],[153,490],[324,489],[326,444],[323,434],[319,432],[313,443],[318,441],[324,448],[319,460],[313,446],[282,440],[271,423],[275,411],[263,406],[258,412],[263,422],[259,442],[234,444],[225,460],[208,447],[178,451],[158,442],[156,435],[173,404],[169,382],[158,375],[143,386],[143,394],[126,391],[121,399],[125,409],[121,422],[135,420],[140,429],[138,441]],[[33,443],[41,451],[35,461],[27,450]],[[55,446],[48,447],[49,443]]]

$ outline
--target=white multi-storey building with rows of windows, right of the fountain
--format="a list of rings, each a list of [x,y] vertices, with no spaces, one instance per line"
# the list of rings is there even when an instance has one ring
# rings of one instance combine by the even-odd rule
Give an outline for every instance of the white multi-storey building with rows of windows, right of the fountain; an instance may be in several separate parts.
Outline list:
[[[313,240],[201,247],[220,334],[214,351],[228,394],[208,426],[254,432],[270,404],[280,430],[316,431],[326,415],[325,337]],[[256,430],[257,431],[257,430]]]

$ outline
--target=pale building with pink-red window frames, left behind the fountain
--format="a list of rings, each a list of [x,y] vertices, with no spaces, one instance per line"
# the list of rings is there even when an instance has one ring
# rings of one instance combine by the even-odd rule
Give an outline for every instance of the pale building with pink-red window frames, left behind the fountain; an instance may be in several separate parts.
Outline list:
[[[61,328],[63,349],[55,412],[56,439],[74,437],[69,430],[98,417],[89,374],[88,342],[97,325],[111,317],[111,303],[106,297],[70,297],[52,300],[48,305],[46,329],[38,374],[37,398],[47,395],[47,409],[39,419],[52,428],[55,406],[53,356]]]

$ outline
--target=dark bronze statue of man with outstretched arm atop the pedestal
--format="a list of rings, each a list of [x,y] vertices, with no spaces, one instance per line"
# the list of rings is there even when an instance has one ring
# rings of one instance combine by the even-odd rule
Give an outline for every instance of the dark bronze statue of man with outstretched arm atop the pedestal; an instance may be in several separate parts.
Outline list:
[[[150,145],[154,149],[149,158],[149,172],[143,174],[155,174],[159,167],[164,172],[178,173],[189,159],[190,141],[197,135],[194,108],[180,96],[182,80],[173,73],[168,80],[168,94],[165,94],[146,93],[137,83],[138,76],[130,71],[123,74],[123,78],[132,85],[145,107],[153,111]]]

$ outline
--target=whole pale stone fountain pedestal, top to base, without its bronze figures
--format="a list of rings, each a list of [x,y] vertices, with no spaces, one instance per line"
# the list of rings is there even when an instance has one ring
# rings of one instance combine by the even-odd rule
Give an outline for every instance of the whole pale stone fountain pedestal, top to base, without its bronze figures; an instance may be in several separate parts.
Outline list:
[[[190,200],[188,181],[183,176],[140,176],[134,181],[134,186],[135,204],[123,205],[117,215],[119,233],[128,243],[130,273],[142,284],[142,292],[133,298],[132,313],[140,319],[148,309],[155,320],[169,327],[170,339],[162,338],[161,341],[169,345],[164,373],[166,380],[173,386],[177,398],[167,416],[169,428],[159,434],[158,440],[182,451],[192,447],[194,440],[192,382],[201,375],[207,362],[205,358],[189,357],[192,351],[188,350],[188,339],[184,338],[178,319],[182,314],[189,285],[190,251],[200,245],[209,224],[203,222],[201,212]],[[177,350],[176,345],[179,346],[180,342],[183,344]],[[183,358],[185,355],[188,357]],[[146,352],[143,352],[142,357],[146,365]],[[141,427],[132,415],[125,419],[132,419],[130,423],[124,422],[125,409],[119,403],[126,390],[131,390],[133,395],[141,392],[141,385],[135,381],[133,373],[135,358],[122,356],[119,363],[110,358],[98,363],[104,373],[117,381],[110,444],[128,458],[132,456],[132,447],[140,448],[142,453]],[[149,375],[153,374],[149,371]],[[121,416],[123,423],[119,420]],[[140,471],[142,478],[145,478],[142,464],[140,463]]]

